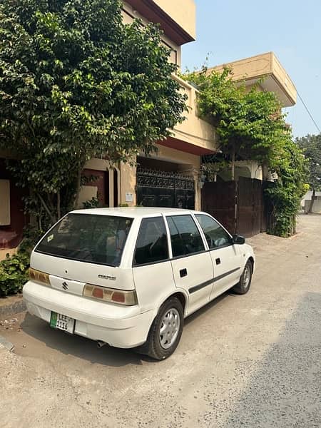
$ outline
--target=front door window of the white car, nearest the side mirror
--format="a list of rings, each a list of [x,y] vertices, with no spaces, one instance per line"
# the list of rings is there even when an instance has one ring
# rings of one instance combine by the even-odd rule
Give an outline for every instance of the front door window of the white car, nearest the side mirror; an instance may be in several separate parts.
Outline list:
[[[198,223],[200,223],[200,227],[203,229],[210,250],[232,245],[230,235],[217,221],[204,214],[196,214],[195,217],[198,219]]]

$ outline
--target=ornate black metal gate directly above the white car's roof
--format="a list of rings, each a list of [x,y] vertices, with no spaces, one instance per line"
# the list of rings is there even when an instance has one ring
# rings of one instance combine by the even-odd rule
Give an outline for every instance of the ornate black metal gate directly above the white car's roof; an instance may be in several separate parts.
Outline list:
[[[195,208],[193,177],[156,170],[137,170],[137,203],[144,207]]]

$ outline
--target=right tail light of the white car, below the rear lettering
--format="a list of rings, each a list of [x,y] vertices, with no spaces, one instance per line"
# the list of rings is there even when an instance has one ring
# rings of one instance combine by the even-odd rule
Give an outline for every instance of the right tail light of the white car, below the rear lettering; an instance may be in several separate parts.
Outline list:
[[[104,300],[105,302],[119,303],[125,306],[137,305],[136,290],[123,291],[86,284],[85,287],[83,287],[83,295],[97,300]]]

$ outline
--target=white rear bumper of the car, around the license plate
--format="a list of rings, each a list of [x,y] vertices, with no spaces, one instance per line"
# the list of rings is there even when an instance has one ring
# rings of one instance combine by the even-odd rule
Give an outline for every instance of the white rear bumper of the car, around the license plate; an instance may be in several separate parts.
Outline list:
[[[46,322],[50,322],[52,311],[67,315],[76,320],[76,335],[101,340],[114,347],[142,345],[154,317],[153,311],[141,313],[138,306],[99,302],[33,281],[26,282],[23,295],[32,315]]]

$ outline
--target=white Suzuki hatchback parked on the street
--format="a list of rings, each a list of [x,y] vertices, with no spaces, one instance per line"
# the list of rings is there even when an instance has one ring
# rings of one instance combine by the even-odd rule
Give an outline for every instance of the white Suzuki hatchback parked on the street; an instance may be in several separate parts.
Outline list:
[[[24,300],[51,327],[163,360],[185,317],[231,287],[248,292],[254,265],[244,238],[207,213],[75,210],[34,248]]]

